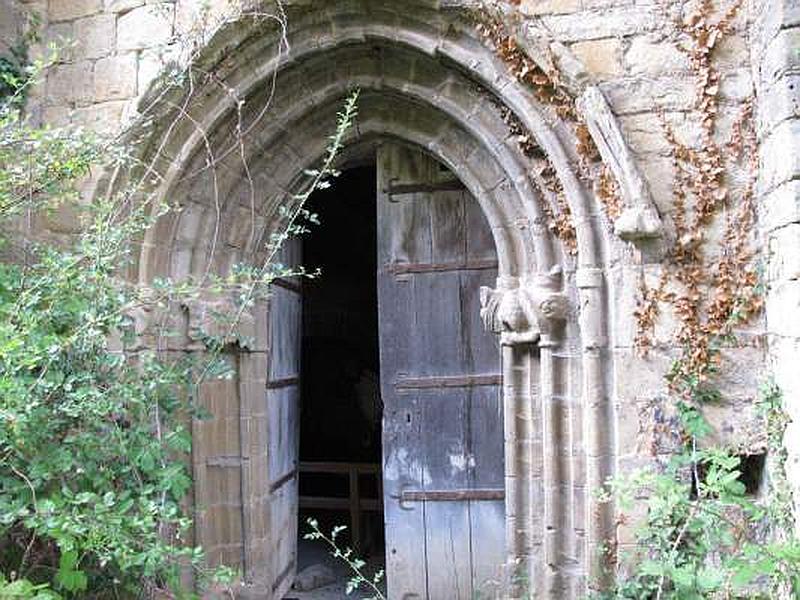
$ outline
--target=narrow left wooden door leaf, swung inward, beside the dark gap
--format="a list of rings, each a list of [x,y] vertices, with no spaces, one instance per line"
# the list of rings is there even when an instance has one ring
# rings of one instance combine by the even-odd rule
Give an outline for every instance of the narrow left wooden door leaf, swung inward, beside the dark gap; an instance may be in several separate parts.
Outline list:
[[[300,242],[289,240],[281,260],[300,264]],[[300,353],[302,298],[296,280],[277,280],[269,299],[267,440],[269,546],[272,593],[283,598],[297,567],[298,462],[300,435]]]

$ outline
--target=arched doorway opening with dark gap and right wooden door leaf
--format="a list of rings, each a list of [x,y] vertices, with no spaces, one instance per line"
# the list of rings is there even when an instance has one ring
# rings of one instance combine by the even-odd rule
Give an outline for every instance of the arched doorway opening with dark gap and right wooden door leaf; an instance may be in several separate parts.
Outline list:
[[[367,160],[308,206],[321,225],[303,263],[322,272],[302,287],[299,530],[347,525],[339,543],[385,568],[392,596],[491,594],[505,558],[499,346],[480,319],[494,240],[426,153],[380,140]],[[298,569],[326,563],[343,590],[323,550],[301,536]]]

